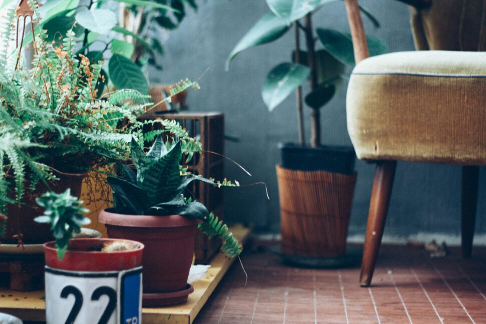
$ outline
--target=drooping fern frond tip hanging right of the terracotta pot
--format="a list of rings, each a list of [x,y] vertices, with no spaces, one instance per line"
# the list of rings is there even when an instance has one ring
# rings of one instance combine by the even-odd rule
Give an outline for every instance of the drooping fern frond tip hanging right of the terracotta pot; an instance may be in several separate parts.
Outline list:
[[[228,231],[226,224],[223,224],[222,220],[215,217],[213,213],[210,213],[204,222],[197,225],[197,227],[209,238],[214,236],[221,238],[224,241],[223,246],[221,246],[221,252],[226,254],[227,257],[235,257],[243,250],[243,246],[234,237],[233,233]]]

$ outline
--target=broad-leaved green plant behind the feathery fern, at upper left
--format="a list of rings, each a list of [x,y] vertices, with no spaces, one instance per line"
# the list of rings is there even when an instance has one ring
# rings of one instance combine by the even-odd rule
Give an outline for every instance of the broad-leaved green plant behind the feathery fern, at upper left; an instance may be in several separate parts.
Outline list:
[[[11,8],[13,12],[15,2],[5,0],[0,9]],[[110,80],[118,89],[134,89],[142,94],[148,94],[149,86],[141,67],[147,63],[159,67],[155,53],[163,53],[162,44],[153,35],[160,35],[160,28],[176,28],[187,6],[197,9],[195,0],[43,0],[32,4],[42,5],[36,35],[43,29],[48,42],[60,43],[67,31],[73,30],[82,39],[76,54],[84,54],[92,64],[109,58],[100,70],[104,77],[100,87]],[[29,33],[24,45],[32,41]],[[102,89],[98,92],[101,95]]]

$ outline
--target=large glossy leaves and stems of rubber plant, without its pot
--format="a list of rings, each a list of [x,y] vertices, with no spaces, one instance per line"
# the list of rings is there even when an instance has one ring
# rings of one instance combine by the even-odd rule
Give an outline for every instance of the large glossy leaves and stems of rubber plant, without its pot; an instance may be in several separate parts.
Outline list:
[[[312,16],[323,5],[336,0],[266,0],[269,12],[237,43],[226,60],[229,63],[246,49],[272,43],[295,28],[295,49],[290,62],[272,68],[265,80],[262,97],[269,111],[273,111],[290,94],[297,90],[297,117],[299,142],[305,145],[302,109],[302,85],[309,81],[310,92],[304,101],[311,108],[311,147],[321,145],[320,109],[336,95],[346,66],[354,65],[351,35],[334,29],[312,26]],[[378,21],[363,7],[361,11],[375,27]],[[304,22],[302,22],[302,20]],[[305,37],[306,50],[301,50],[300,35]],[[317,48],[317,40],[321,48]],[[367,37],[370,56],[386,52],[386,44]]]

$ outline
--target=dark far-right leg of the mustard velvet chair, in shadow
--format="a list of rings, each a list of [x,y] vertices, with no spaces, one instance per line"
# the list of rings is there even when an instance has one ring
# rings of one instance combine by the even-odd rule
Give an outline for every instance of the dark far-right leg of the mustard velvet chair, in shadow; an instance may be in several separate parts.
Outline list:
[[[478,177],[478,166],[462,167],[461,248],[462,256],[464,258],[470,258],[472,253],[472,239],[474,238],[474,223],[477,207]]]

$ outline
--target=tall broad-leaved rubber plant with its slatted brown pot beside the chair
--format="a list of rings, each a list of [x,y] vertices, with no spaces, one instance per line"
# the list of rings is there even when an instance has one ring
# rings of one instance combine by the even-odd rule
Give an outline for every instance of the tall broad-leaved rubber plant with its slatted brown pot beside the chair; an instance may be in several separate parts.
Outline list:
[[[312,26],[313,15],[333,1],[266,0],[269,12],[237,43],[226,61],[227,69],[241,51],[274,42],[295,28],[289,62],[271,69],[262,89],[270,111],[297,90],[300,145],[281,144],[282,164],[277,165],[281,248],[287,255],[337,257],[346,249],[356,156],[349,146],[321,145],[320,110],[338,92],[346,66],[354,65],[353,44],[347,32]],[[377,27],[376,19],[360,9]],[[305,50],[301,49],[301,35]],[[386,51],[384,42],[375,38],[368,37],[368,45],[371,55]],[[310,91],[304,96],[306,82]],[[303,101],[310,108],[310,145],[304,138]]]

